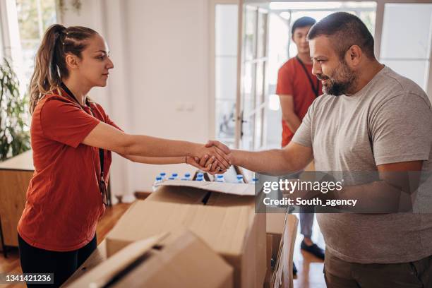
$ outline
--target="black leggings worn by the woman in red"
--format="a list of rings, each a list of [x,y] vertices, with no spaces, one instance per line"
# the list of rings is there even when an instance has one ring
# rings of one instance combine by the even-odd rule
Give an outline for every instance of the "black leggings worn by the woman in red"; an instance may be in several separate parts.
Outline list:
[[[18,234],[20,263],[24,273],[54,273],[54,284],[27,284],[28,287],[59,287],[95,251],[96,235],[89,244],[78,250],[57,252],[30,246]]]

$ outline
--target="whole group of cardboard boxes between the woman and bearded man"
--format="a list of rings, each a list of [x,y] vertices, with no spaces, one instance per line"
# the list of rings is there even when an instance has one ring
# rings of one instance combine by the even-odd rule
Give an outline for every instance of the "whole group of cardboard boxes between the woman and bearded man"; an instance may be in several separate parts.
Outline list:
[[[251,184],[164,181],[109,232],[107,260],[71,287],[289,287],[289,258],[273,272],[270,258],[289,255],[294,216],[272,214],[269,226],[255,207]]]

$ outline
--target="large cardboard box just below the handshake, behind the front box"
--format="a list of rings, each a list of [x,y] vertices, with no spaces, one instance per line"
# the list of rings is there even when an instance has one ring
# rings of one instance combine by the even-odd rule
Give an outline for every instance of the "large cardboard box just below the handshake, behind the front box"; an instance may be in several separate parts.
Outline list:
[[[262,287],[266,272],[265,214],[255,213],[249,184],[164,181],[138,200],[107,235],[113,255],[132,241],[186,227],[234,268],[234,287]]]

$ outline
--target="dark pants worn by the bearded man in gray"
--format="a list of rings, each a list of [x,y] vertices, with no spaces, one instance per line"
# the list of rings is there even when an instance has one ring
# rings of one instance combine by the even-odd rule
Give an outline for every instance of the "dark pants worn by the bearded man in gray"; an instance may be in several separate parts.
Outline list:
[[[407,263],[351,263],[325,251],[325,284],[328,288],[430,288],[432,256]]]

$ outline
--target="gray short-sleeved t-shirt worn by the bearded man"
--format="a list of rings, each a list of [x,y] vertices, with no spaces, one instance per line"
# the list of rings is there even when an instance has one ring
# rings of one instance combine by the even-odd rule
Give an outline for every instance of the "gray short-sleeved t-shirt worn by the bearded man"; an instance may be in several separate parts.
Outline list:
[[[292,141],[313,148],[316,171],[371,172],[380,164],[416,160],[430,170],[431,102],[412,80],[384,67],[354,95],[318,97]],[[432,255],[432,214],[317,219],[326,248],[345,261],[403,263]]]

